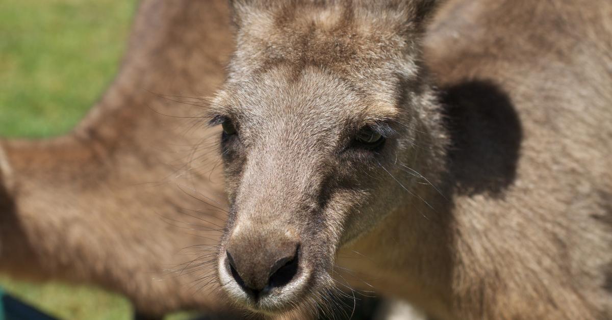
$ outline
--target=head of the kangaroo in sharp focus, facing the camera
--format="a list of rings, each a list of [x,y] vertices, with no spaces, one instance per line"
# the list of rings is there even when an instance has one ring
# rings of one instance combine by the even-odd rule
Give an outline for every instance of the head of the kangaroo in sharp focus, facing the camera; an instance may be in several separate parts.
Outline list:
[[[338,248],[405,207],[441,158],[417,45],[430,1],[233,7],[211,121],[231,203],[218,275],[237,302],[277,312],[329,291]]]

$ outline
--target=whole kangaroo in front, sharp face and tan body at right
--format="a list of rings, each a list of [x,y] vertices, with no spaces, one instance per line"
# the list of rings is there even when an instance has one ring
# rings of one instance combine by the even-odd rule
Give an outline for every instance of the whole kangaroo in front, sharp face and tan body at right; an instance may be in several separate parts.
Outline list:
[[[436,319],[612,318],[612,4],[232,1],[218,282]]]

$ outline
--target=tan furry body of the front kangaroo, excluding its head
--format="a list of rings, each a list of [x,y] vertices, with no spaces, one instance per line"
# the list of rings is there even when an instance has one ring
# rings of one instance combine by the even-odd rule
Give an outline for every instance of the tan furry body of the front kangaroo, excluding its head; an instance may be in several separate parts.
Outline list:
[[[367,266],[347,267],[389,275],[373,281],[442,319],[610,318],[611,13],[442,7],[425,61],[446,108],[447,192],[414,199],[429,220],[394,212],[349,247]]]

